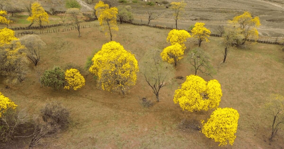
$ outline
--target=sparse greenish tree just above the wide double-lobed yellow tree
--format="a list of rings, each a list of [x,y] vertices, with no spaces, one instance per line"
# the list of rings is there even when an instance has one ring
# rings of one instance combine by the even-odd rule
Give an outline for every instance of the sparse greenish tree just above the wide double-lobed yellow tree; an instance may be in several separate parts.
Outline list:
[[[195,75],[197,74],[197,70],[210,76],[216,73],[213,66],[210,64],[210,58],[201,48],[195,48],[189,54],[189,62],[193,66]]]

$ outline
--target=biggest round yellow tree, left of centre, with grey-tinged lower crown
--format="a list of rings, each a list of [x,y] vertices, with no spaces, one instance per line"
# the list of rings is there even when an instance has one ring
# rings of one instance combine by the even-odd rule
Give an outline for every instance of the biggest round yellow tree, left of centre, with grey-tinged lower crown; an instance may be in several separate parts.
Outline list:
[[[125,95],[136,84],[138,62],[134,54],[126,51],[120,43],[110,41],[102,46],[92,58],[89,71],[95,74],[98,85],[106,91],[119,91]]]

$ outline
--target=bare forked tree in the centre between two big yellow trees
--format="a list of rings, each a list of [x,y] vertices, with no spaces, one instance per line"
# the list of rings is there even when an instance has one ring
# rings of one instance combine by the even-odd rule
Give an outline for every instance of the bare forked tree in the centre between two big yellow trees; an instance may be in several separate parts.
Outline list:
[[[144,58],[144,68],[142,68],[145,81],[151,87],[159,102],[159,92],[164,86],[169,85],[174,76],[174,68],[167,62],[163,62],[158,50],[153,50],[146,54]]]

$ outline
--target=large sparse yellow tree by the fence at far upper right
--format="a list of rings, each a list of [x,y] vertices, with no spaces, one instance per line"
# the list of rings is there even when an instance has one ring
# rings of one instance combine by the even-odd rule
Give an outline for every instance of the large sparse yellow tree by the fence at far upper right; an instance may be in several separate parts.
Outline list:
[[[252,18],[250,12],[244,12],[242,15],[235,16],[233,20],[229,20],[229,24],[239,26],[241,33],[244,36],[243,42],[241,45],[244,45],[248,39],[258,39],[257,28],[261,25],[259,17],[256,16]]]

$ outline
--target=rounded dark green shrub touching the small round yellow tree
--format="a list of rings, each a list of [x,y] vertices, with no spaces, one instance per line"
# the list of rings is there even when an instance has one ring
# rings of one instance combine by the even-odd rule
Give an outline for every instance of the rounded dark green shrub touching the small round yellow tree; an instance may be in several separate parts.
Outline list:
[[[60,89],[65,82],[65,73],[58,66],[54,66],[52,70],[45,70],[43,76],[40,78],[41,84],[45,87],[53,89]]]

